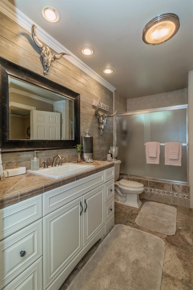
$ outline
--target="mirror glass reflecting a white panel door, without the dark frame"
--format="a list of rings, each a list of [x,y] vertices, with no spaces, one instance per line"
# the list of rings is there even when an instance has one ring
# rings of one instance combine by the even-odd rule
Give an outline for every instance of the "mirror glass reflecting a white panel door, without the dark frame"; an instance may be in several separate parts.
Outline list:
[[[9,76],[10,140],[74,140],[74,100]]]

